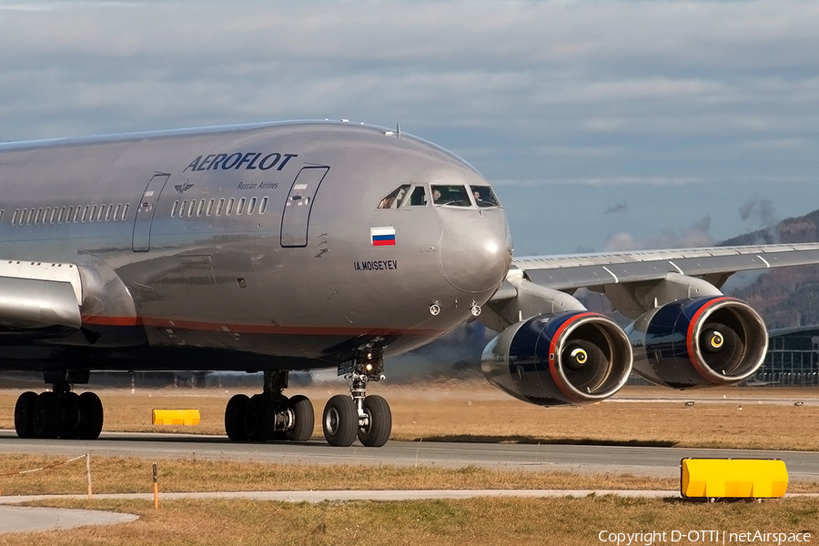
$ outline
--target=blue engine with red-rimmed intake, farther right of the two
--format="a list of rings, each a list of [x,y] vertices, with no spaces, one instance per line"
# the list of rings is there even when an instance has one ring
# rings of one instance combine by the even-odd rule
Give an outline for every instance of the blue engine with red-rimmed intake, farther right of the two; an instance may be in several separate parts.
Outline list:
[[[626,329],[634,370],[675,389],[733,385],[758,369],[768,348],[763,319],[742,300],[686,298],[652,309]]]

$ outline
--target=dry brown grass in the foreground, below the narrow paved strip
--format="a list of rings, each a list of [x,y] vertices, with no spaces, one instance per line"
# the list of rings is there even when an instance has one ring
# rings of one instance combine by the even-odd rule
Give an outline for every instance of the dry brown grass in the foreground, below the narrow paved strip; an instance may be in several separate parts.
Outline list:
[[[819,534],[819,501],[806,499],[715,504],[616,497],[319,504],[214,500],[168,501],[158,511],[147,501],[51,501],[48,505],[125,511],[138,514],[140,520],[111,527],[4,535],[3,543],[588,546],[601,543],[601,531],[658,531],[669,535],[674,530],[703,529],[807,531],[813,539]]]

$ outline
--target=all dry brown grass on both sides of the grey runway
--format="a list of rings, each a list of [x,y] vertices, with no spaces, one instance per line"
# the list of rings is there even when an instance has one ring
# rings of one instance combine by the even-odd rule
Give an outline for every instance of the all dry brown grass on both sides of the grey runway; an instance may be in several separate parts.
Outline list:
[[[317,414],[343,386],[300,389]],[[640,401],[609,401],[583,408],[542,409],[509,399],[480,382],[437,385],[420,390],[377,385],[395,420],[393,439],[526,442],[632,443],[688,447],[819,450],[819,408],[773,404],[772,399],[819,398],[815,389],[723,389],[691,393],[626,389]],[[0,427],[13,428],[18,392],[0,392]],[[105,430],[166,430],[224,434],[223,412],[233,391],[109,390]],[[723,395],[726,397],[722,399]],[[652,400],[653,397],[672,401]],[[674,398],[676,397],[676,398]],[[733,398],[741,397],[737,402]],[[693,408],[684,401],[696,399]],[[732,400],[729,400],[732,399]],[[739,407],[742,406],[742,410]],[[150,412],[197,408],[198,427],[155,427]],[[317,419],[318,420],[318,419]],[[320,436],[317,426],[315,435]],[[42,454],[0,456],[0,474],[59,462]],[[92,460],[96,493],[149,492],[151,461],[122,457]],[[582,476],[558,472],[397,468],[208,460],[159,460],[160,490],[343,490],[351,483],[366,489],[660,489],[678,480]],[[365,476],[361,480],[361,476]],[[86,492],[85,461],[55,469],[0,477],[3,495]],[[789,491],[816,491],[819,484],[792,483]],[[136,513],[140,520],[112,527],[3,535],[9,546],[57,544],[603,544],[601,531],[642,532],[715,530],[784,531],[819,535],[819,501],[787,499],[715,504],[591,497],[585,499],[507,499],[471,501],[323,502],[163,501],[155,511],[146,501],[48,501],[41,504]],[[655,541],[656,542],[656,541]],[[632,542],[633,543],[633,542]],[[645,544],[643,540],[641,542]],[[703,541],[675,541],[675,544]],[[726,543],[732,543],[726,541]],[[739,543],[739,542],[733,542]],[[757,542],[765,543],[765,542]]]

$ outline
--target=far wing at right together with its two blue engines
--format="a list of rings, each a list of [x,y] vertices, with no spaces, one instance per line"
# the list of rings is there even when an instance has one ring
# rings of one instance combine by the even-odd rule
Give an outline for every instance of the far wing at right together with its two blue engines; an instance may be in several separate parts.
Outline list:
[[[480,321],[501,332],[481,369],[511,396],[545,406],[609,398],[632,369],[674,389],[733,385],[767,350],[763,319],[725,297],[738,271],[819,264],[819,243],[516,258]],[[586,309],[602,292],[625,329]]]

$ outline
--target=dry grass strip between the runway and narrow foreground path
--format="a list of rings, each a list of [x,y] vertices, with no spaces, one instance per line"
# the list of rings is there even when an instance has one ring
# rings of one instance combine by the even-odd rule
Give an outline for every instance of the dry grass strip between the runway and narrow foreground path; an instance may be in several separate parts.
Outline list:
[[[65,459],[0,455],[0,474],[31,470]],[[150,492],[151,460],[92,455],[96,493]],[[427,490],[427,489],[679,489],[679,480],[631,475],[487,470],[478,467],[363,465],[311,466],[231,460],[159,460],[166,492],[241,490]],[[819,490],[819,484],[817,489]],[[39,472],[0,476],[3,495],[81,494],[87,490],[85,459]]]

